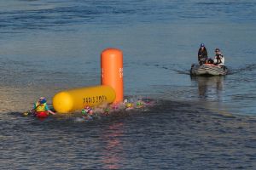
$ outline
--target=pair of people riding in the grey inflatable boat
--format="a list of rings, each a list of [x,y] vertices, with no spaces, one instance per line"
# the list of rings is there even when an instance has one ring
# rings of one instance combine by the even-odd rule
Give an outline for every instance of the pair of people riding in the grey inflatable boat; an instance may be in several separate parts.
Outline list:
[[[221,54],[220,49],[215,49],[214,59],[208,59],[207,48],[204,43],[201,43],[201,46],[198,50],[198,63],[199,65],[203,64],[213,64],[213,65],[224,65],[224,56]]]

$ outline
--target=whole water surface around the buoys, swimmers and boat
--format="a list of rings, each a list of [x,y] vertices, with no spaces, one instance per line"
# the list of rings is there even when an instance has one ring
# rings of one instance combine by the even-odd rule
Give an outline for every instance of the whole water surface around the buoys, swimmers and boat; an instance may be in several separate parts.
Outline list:
[[[255,169],[254,1],[0,2],[1,169]],[[226,77],[190,77],[199,44]],[[22,117],[39,96],[100,83],[124,52],[125,96],[148,111],[93,122]],[[138,81],[139,80],[139,81]]]

